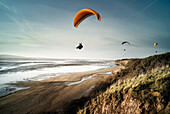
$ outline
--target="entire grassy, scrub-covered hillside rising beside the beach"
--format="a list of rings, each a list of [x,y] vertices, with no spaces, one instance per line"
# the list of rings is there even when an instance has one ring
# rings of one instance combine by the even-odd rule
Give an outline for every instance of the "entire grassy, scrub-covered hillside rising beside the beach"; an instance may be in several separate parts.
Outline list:
[[[96,95],[71,103],[79,114],[170,113],[170,53],[144,59],[118,60],[125,65]],[[75,113],[72,111],[72,113]]]

